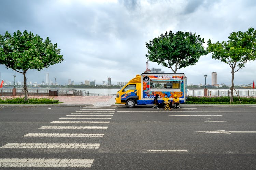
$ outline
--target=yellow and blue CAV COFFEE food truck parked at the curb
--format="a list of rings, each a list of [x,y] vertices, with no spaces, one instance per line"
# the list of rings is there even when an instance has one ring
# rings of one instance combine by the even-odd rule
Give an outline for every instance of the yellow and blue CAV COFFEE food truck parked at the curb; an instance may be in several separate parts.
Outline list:
[[[135,105],[153,104],[158,94],[158,102],[163,102],[165,94],[170,100],[174,95],[180,99],[180,103],[186,102],[187,77],[181,73],[142,73],[137,74],[116,94],[117,104],[126,104],[133,108]]]

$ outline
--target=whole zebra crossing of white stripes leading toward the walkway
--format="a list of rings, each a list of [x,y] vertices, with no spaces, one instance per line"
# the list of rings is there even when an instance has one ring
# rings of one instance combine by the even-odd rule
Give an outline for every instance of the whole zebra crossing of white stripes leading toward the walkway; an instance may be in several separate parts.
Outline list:
[[[79,111],[73,112],[59,119],[69,119],[69,121],[52,121],[49,123],[65,124],[65,126],[41,126],[42,133],[28,133],[23,137],[85,137],[103,138],[104,133],[72,133],[72,130],[106,130],[108,126],[88,126],[89,124],[109,124],[116,107],[83,107]],[[102,115],[103,114],[103,115]],[[77,121],[87,119],[87,121]],[[92,120],[92,121],[89,121]],[[97,120],[97,121],[94,121]],[[102,120],[102,121],[100,121]],[[67,124],[76,124],[68,126]],[[79,124],[88,124],[79,126]],[[43,133],[44,130],[57,130],[59,133]],[[70,130],[71,133],[61,133],[61,130]],[[39,138],[40,139],[40,138]],[[100,143],[6,143],[0,149],[98,149]],[[14,151],[15,152],[15,151]],[[90,168],[94,159],[46,159],[46,158],[1,158],[0,167],[48,167],[65,168],[80,167]]]

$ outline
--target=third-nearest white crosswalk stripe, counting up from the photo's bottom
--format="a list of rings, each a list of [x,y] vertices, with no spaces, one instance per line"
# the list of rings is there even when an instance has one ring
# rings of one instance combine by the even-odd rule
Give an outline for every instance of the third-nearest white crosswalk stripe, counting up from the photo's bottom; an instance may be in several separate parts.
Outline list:
[[[23,137],[103,137],[101,133],[28,133]]]

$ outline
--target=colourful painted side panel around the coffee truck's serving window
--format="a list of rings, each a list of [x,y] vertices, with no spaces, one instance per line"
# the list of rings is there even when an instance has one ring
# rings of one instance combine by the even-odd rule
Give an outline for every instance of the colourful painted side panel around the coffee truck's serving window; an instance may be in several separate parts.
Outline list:
[[[180,81],[181,91],[152,91],[150,90],[150,80],[152,81]],[[165,94],[167,97],[174,98],[174,95],[177,95],[178,98],[183,98],[183,87],[184,87],[184,77],[175,76],[175,75],[144,75],[143,76],[143,98],[155,98],[155,95],[158,94],[159,98],[163,98]]]

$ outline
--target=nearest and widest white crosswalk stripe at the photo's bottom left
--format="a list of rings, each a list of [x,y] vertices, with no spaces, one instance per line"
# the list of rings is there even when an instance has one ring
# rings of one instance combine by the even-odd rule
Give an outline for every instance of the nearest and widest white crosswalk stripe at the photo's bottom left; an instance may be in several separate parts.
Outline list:
[[[0,167],[48,167],[48,168],[90,168],[94,159],[30,159],[5,158],[0,159]]]

